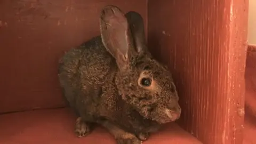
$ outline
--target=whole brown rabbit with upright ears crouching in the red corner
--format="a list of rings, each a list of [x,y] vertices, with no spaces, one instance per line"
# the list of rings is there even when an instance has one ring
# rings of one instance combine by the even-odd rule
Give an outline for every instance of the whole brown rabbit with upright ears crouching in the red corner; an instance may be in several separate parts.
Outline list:
[[[107,5],[100,36],[66,52],[59,61],[60,86],[77,114],[75,133],[105,127],[118,144],[138,144],[180,117],[171,72],[146,45],[141,15]]]

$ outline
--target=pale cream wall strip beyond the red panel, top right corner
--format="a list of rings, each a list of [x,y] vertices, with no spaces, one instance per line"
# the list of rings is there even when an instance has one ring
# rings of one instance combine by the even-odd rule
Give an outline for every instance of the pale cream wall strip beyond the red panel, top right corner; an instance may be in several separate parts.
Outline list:
[[[248,44],[256,45],[256,0],[249,0]]]

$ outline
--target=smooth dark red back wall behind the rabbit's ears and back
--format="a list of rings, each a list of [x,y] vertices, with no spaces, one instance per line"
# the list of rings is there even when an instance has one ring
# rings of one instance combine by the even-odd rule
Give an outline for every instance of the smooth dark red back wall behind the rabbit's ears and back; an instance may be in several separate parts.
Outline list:
[[[103,6],[137,11],[147,1],[1,0],[0,113],[63,107],[57,77],[63,52],[100,34]]]

